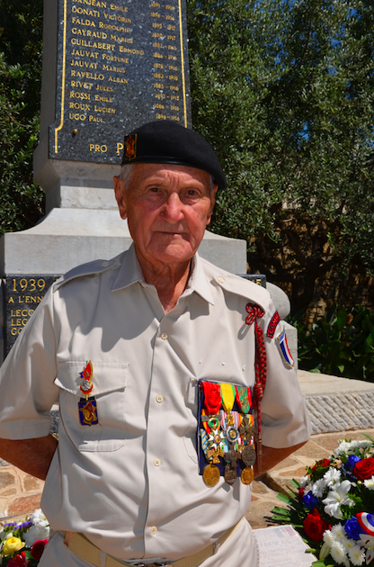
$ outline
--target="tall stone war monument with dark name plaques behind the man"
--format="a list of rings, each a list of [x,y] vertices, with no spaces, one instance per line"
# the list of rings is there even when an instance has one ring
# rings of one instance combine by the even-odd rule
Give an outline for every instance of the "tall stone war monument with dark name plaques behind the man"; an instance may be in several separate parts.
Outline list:
[[[46,216],[0,239],[0,362],[58,275],[129,247],[112,188],[123,135],[152,120],[191,127],[184,0],[167,2],[44,1],[34,178]],[[206,231],[200,254],[246,272],[244,240]]]

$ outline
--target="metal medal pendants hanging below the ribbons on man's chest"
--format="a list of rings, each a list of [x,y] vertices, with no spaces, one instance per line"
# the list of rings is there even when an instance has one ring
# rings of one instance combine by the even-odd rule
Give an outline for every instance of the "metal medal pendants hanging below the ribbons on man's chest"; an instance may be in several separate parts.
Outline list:
[[[227,428],[221,430],[219,415],[202,416],[203,421],[208,421],[210,428],[208,447],[204,451],[209,464],[205,467],[202,478],[208,486],[215,486],[220,477],[217,464],[220,463],[219,457],[225,459],[224,479],[227,484],[236,482],[236,462],[241,459],[245,464],[240,480],[243,484],[251,484],[254,480],[252,466],[256,460],[254,446],[251,445],[254,439],[254,426],[251,426],[250,416],[245,415],[243,425],[238,428],[234,425],[234,419],[230,411],[227,412]],[[204,436],[205,430],[201,429],[200,435]],[[237,443],[241,438],[242,443]],[[227,449],[226,451],[224,449]],[[237,448],[237,450],[236,450]]]

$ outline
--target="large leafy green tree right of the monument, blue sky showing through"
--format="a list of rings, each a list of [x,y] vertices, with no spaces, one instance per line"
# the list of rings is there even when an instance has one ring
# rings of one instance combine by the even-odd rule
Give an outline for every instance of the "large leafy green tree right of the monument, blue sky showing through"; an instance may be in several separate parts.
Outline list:
[[[228,189],[212,229],[245,238],[292,310],[352,263],[374,273],[371,0],[187,0],[194,127]]]

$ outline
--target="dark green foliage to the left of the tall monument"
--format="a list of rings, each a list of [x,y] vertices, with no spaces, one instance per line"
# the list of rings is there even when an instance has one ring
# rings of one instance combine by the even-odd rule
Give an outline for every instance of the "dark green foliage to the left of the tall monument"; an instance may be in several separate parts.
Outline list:
[[[32,180],[39,134],[42,2],[0,2],[0,235],[33,226],[44,195]]]

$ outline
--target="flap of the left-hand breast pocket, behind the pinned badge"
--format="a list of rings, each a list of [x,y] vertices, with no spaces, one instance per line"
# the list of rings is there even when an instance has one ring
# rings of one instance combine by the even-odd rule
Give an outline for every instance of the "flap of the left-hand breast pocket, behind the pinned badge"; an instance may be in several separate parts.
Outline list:
[[[58,364],[58,376],[55,384],[66,392],[70,392],[76,397],[81,398],[82,393],[79,389],[83,378],[81,372],[85,370],[88,361],[68,361]],[[94,362],[93,377],[94,390],[92,395],[123,390],[127,386],[129,365],[123,363]]]

